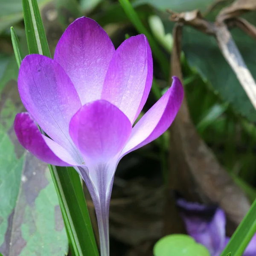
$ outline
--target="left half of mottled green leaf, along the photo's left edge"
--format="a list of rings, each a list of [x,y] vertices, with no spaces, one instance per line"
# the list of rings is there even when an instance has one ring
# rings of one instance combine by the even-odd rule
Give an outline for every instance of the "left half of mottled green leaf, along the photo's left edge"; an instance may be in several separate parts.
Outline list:
[[[8,254],[10,230],[23,166],[23,148],[12,129],[15,113],[21,110],[17,84],[7,84],[0,95],[0,251]]]

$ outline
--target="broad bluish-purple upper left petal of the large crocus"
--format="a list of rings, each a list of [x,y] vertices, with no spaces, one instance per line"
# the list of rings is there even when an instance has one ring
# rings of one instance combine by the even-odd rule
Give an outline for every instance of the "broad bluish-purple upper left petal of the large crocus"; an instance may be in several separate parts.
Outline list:
[[[23,105],[40,127],[74,157],[78,155],[68,124],[81,102],[63,68],[46,56],[28,55],[20,65],[18,89]]]

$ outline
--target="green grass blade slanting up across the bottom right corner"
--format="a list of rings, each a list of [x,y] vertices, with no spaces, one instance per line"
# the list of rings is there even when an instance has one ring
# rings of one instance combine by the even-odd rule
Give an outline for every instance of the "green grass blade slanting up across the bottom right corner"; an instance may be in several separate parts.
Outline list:
[[[247,215],[236,229],[226,248],[221,253],[221,256],[227,256],[229,253],[231,256],[241,256],[255,233],[256,200],[253,202],[249,212],[247,212]]]

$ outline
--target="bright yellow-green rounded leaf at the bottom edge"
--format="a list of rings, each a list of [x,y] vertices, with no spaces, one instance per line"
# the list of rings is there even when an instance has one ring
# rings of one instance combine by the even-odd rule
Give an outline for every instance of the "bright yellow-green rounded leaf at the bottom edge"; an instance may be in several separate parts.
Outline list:
[[[161,238],[154,246],[154,256],[210,256],[202,244],[187,235],[175,234]]]

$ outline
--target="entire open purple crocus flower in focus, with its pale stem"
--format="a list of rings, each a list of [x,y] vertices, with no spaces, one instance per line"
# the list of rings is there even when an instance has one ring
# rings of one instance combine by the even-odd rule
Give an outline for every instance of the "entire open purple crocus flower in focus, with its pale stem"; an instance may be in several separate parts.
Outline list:
[[[108,214],[117,164],[163,134],[183,99],[174,77],[172,87],[133,127],[152,76],[145,35],[115,50],[99,24],[86,17],[67,28],[53,60],[33,54],[20,66],[18,90],[28,113],[15,118],[17,138],[40,160],[79,172],[95,205],[102,256],[109,255]]]

